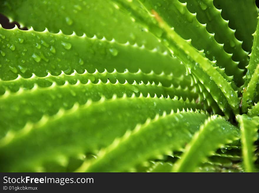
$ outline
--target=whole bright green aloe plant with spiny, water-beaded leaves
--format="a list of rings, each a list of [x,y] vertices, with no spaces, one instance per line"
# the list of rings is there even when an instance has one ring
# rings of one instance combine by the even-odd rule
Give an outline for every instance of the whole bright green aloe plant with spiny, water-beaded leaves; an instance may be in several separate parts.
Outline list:
[[[1,1],[0,170],[258,171],[255,0]]]

